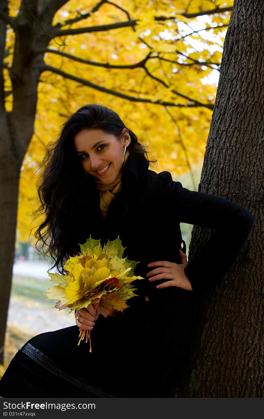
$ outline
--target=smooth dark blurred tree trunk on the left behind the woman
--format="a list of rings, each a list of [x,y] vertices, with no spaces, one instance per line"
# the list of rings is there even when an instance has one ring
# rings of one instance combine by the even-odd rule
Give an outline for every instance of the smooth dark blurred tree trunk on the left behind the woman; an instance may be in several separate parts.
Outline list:
[[[51,36],[43,33],[51,26],[53,14],[62,1],[54,1],[46,7],[38,22],[36,16],[41,2],[21,2],[18,17],[13,22],[15,49],[12,68],[13,110],[5,111],[3,72],[0,75],[0,364],[3,363],[5,324],[8,313],[12,269],[15,251],[15,231],[18,206],[20,167],[34,132],[37,88],[43,54],[34,55],[35,50],[47,47]],[[52,9],[53,7],[53,9]],[[0,1],[0,11],[8,15],[6,0]],[[0,60],[5,54],[6,24],[0,20]]]

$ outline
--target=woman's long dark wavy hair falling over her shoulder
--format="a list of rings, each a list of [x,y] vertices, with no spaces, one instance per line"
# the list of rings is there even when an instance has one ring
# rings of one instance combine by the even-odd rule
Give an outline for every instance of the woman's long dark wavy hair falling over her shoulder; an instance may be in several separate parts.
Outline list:
[[[44,217],[34,236],[38,239],[37,248],[37,244],[42,243],[38,251],[54,262],[49,270],[56,266],[58,272],[65,274],[64,262],[80,251],[78,243],[83,233],[80,220],[87,220],[89,202],[96,199],[92,176],[84,170],[74,148],[75,135],[82,129],[102,129],[121,140],[124,128],[127,128],[124,122],[112,109],[89,104],[72,114],[62,125],[58,140],[48,144],[42,160],[41,167],[44,168],[36,184],[39,206],[32,215],[35,216],[33,221],[39,216]],[[150,166],[156,163],[157,160],[149,160],[148,152],[136,134],[131,129],[128,132],[129,154],[145,155]]]

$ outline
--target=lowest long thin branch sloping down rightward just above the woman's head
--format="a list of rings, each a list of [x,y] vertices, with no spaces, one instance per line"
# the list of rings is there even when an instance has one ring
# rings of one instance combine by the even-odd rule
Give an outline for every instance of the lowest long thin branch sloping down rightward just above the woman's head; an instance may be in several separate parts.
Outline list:
[[[116,92],[114,90],[107,89],[107,88],[102,87],[102,86],[98,86],[94,83],[89,82],[88,80],[84,80],[82,78],[75,77],[75,76],[73,76],[69,73],[66,73],[66,72],[62,71],[62,70],[58,70],[55,67],[51,67],[50,65],[43,65],[41,67],[40,71],[41,72],[51,71],[55,74],[61,75],[62,77],[68,78],[70,80],[74,80],[77,83],[81,83],[84,86],[88,86],[88,87],[91,87],[93,89],[99,90],[100,92],[109,93],[110,95],[114,95],[114,96],[117,96],[119,98],[127,99],[127,100],[132,101],[132,102],[153,103],[153,104],[156,104],[156,105],[175,106],[175,107],[180,107],[180,108],[195,108],[195,107],[197,107],[196,105],[192,105],[192,104],[182,105],[182,104],[177,104],[177,103],[173,103],[173,102],[161,102],[161,101],[152,102],[150,99],[135,98],[133,96],[126,95],[124,93],[119,93],[119,92]],[[205,105],[201,105],[201,106],[204,107]]]

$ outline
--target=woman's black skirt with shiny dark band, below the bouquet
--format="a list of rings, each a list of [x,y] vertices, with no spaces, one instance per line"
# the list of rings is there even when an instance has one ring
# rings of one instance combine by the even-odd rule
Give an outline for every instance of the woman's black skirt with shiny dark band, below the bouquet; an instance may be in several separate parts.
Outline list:
[[[0,380],[2,397],[174,397],[195,327],[193,293],[133,297],[124,312],[99,316],[89,342],[78,326],[34,336]],[[168,290],[168,288],[167,288]]]

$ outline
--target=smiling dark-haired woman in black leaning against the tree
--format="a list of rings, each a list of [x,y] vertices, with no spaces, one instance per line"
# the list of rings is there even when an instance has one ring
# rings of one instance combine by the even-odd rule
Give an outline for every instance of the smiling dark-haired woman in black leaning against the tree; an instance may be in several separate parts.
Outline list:
[[[63,261],[89,235],[102,246],[119,236],[123,258],[138,261],[135,275],[144,279],[124,312],[76,310],[76,325],[30,339],[0,381],[2,397],[173,397],[195,329],[195,293],[221,280],[254,217],[155,173],[145,155],[119,116],[99,105],[76,111],[48,150],[38,186],[45,220],[35,235],[53,266],[64,273]],[[216,230],[188,264],[180,222]],[[80,327],[92,329],[91,353],[77,346]]]

